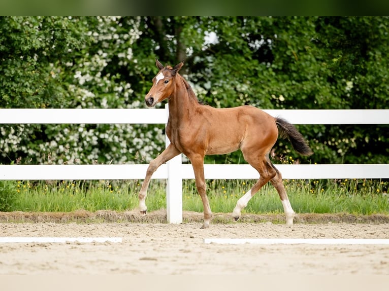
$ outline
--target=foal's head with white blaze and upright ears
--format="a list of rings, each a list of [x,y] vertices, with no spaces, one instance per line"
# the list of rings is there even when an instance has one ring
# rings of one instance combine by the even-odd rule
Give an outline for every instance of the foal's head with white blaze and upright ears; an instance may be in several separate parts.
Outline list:
[[[157,59],[155,59],[155,64],[159,69],[159,72],[153,78],[153,86],[145,97],[146,105],[149,107],[152,107],[156,103],[170,97],[174,90],[174,77],[184,64],[184,61],[180,62],[174,67],[171,67],[164,66]]]

